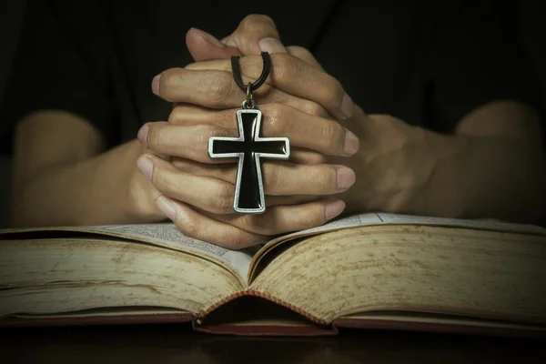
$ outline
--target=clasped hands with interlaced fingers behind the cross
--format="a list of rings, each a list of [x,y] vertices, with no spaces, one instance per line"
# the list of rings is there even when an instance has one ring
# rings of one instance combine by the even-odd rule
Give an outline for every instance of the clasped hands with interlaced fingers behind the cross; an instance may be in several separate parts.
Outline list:
[[[336,195],[355,182],[349,167],[329,157],[350,157],[359,139],[338,120],[353,106],[339,82],[322,71],[302,48],[271,55],[265,85],[254,96],[263,113],[262,136],[287,136],[288,161],[262,162],[267,210],[233,213],[237,164],[207,156],[211,136],[238,136],[236,111],[245,98],[231,74],[229,59],[173,68],[154,80],[154,92],[174,108],[167,122],[147,123],[138,139],[152,153],[138,161],[157,191],[158,207],[187,236],[229,248],[244,248],[268,237],[319,226],[339,214]],[[255,80],[260,56],[239,60],[245,82]]]

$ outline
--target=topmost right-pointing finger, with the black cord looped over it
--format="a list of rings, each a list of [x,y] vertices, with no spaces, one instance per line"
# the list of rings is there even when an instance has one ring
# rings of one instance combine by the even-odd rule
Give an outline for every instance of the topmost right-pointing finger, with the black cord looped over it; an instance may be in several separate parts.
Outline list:
[[[261,56],[241,57],[239,65],[241,74],[247,77],[248,80],[256,80],[262,72]],[[228,85],[231,83],[235,85],[235,82],[231,79],[231,63],[227,60],[199,62],[188,65],[185,70],[226,71],[229,72],[229,77],[220,81],[223,86],[222,90],[225,91],[228,89]],[[166,72],[168,73],[170,70]],[[221,77],[219,74],[216,75]],[[182,72],[174,71],[172,74],[168,74],[168,77],[173,76],[182,76]],[[247,81],[245,80],[245,82]],[[330,114],[339,119],[345,119],[353,114],[354,104],[345,93],[341,84],[339,84],[339,81],[318,68],[309,66],[305,61],[295,56],[285,54],[271,55],[271,70],[266,83],[289,95],[317,102],[326,108]],[[257,96],[262,87],[256,91],[255,94]]]

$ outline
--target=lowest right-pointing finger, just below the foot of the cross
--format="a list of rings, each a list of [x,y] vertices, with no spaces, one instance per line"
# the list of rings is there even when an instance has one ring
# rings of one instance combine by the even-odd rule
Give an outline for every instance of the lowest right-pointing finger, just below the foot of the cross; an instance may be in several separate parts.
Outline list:
[[[338,217],[344,209],[342,200],[321,199],[296,206],[269,207],[259,215],[205,215],[252,234],[272,236],[319,227]]]

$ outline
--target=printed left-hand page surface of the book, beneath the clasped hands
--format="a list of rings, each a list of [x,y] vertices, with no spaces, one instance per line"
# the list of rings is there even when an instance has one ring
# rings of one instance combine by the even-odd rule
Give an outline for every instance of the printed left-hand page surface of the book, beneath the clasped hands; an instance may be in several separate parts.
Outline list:
[[[194,252],[200,257],[213,258],[233,268],[241,278],[247,277],[252,256],[258,248],[229,250],[195,238],[188,238],[175,224],[135,224],[97,227],[77,227],[77,231],[96,232],[118,238],[144,241],[166,248]]]

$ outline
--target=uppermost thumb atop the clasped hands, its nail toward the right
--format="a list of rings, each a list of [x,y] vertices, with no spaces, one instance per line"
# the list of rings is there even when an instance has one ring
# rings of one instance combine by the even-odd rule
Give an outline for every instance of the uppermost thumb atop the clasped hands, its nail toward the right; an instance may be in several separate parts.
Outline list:
[[[268,15],[248,15],[222,43],[237,48],[244,56],[261,52],[288,53],[280,42],[275,22]]]

